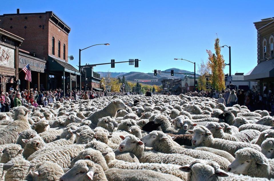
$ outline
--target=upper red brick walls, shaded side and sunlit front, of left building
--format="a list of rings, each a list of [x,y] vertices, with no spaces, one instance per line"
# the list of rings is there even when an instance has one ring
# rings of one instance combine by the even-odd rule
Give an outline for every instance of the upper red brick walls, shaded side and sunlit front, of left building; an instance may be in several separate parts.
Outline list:
[[[47,60],[48,54],[52,55],[52,37],[54,35],[55,55],[53,56],[58,57],[58,41],[60,40],[60,59],[63,60],[63,44],[65,44],[65,60],[67,62],[68,34],[49,20],[50,15],[51,13],[37,13],[0,16],[0,28],[24,38],[20,49],[34,52],[37,58],[45,58],[45,60]],[[41,27],[39,27],[40,25]],[[10,28],[11,26],[12,28]],[[25,26],[27,28],[24,28]]]

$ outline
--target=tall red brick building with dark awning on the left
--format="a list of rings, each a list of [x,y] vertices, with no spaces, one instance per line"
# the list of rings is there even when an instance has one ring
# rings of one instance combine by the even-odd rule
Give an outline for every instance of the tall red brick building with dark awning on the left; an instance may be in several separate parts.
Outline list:
[[[32,69],[36,78],[30,87],[37,85],[38,89],[62,88],[71,90],[77,88],[77,76],[80,72],[68,64],[68,35],[70,27],[52,11],[45,13],[20,13],[0,15],[0,28],[9,30],[24,38],[21,44],[22,53],[27,58],[36,60],[36,64],[45,63],[46,71]],[[31,61],[31,60],[29,60]],[[38,62],[37,62],[38,61]],[[20,67],[19,67],[20,68]],[[23,74],[20,88],[28,87]]]

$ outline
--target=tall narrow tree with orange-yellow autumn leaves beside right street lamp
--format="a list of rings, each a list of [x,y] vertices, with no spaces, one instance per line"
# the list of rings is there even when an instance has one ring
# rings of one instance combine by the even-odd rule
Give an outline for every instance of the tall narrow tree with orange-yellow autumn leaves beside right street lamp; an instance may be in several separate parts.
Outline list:
[[[219,42],[219,38],[216,38],[214,44],[215,54],[210,50],[206,51],[208,54],[207,65],[212,74],[211,84],[215,90],[221,91],[222,88],[225,88],[225,60],[223,59],[223,55],[221,55],[221,46],[219,45]]]

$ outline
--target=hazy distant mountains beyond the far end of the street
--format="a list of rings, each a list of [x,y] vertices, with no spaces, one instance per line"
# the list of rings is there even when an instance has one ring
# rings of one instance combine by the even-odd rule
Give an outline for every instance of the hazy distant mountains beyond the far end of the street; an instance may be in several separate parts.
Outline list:
[[[161,74],[157,73],[157,76],[154,76],[154,73],[143,73],[143,72],[129,72],[129,73],[125,73],[125,72],[111,72],[111,77],[113,78],[122,78],[123,76],[125,76],[126,80],[129,81],[134,81],[134,79],[158,79],[158,82],[144,82],[145,84],[149,84],[149,85],[161,85],[161,80],[163,79],[169,79],[169,78],[174,78],[174,79],[180,79],[180,78],[184,78],[185,74],[175,74],[174,76],[171,76],[170,73],[164,73],[164,72],[170,72],[171,70],[174,70],[175,73],[190,73],[190,74],[194,74],[194,72],[189,72],[187,70],[181,70],[178,68],[170,68],[167,70],[164,70],[161,72]],[[98,72],[101,77],[105,77],[107,75],[107,72]],[[193,75],[189,75],[192,76]],[[198,77],[199,74],[196,74],[196,77]]]

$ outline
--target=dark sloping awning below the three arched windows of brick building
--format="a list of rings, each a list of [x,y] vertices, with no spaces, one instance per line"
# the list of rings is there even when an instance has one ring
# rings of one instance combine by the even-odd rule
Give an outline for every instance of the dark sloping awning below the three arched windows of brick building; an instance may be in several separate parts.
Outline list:
[[[68,64],[65,61],[59,60],[58,58],[55,58],[53,56],[48,56],[48,70],[50,71],[65,71],[72,74],[80,75],[80,72],[74,68],[71,64]]]

